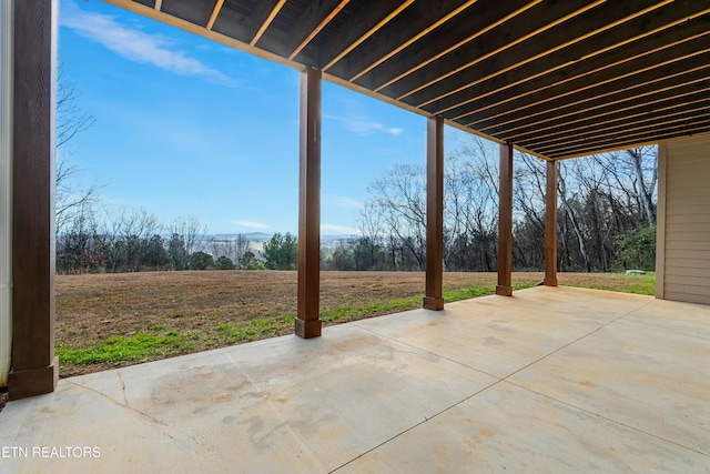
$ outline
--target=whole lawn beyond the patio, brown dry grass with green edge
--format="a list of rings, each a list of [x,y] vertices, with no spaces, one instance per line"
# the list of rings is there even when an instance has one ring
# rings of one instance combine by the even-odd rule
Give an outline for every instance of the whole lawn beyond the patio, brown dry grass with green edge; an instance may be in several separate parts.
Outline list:
[[[560,274],[560,284],[625,291],[625,275]],[[515,273],[516,288],[541,273]],[[494,292],[495,273],[445,273],[445,299]],[[424,273],[322,272],[326,324],[420,307]],[[148,272],[57,278],[61,376],[293,333],[296,273]]]

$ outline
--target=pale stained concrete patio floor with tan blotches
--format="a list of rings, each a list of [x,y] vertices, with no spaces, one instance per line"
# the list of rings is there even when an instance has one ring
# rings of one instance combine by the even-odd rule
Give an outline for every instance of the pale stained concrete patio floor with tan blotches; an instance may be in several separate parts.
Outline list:
[[[710,306],[536,288],[67,379],[7,405],[0,450],[1,473],[710,473]]]

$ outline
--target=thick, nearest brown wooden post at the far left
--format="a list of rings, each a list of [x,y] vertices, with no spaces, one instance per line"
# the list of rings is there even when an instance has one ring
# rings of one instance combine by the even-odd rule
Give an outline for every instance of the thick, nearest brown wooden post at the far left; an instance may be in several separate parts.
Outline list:
[[[11,400],[52,392],[57,2],[14,2]]]

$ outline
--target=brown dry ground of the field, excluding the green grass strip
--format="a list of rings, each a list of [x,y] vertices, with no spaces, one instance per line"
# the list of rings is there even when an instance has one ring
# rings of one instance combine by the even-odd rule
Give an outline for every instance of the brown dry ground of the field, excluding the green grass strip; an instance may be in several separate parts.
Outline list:
[[[445,273],[445,289],[457,290],[496,283],[495,273]],[[539,282],[541,273],[514,273],[515,283]],[[623,288],[623,275],[559,274],[560,284],[589,288]],[[423,296],[422,272],[322,272],[321,310],[366,306],[396,299]],[[410,307],[420,307],[414,299]],[[359,317],[386,313],[369,311]],[[246,323],[254,319],[281,321],[275,331],[256,337],[293,332],[284,316],[296,313],[296,273],[291,271],[193,271],[57,276],[57,339],[69,349],[85,346],[115,335],[176,331],[199,333],[189,350],[200,352],[233,344],[219,336],[221,324]],[[345,322],[341,319],[338,322]],[[154,356],[139,362],[160,359]],[[136,363],[136,362],[131,362]],[[112,369],[98,363],[60,367],[72,376]]]

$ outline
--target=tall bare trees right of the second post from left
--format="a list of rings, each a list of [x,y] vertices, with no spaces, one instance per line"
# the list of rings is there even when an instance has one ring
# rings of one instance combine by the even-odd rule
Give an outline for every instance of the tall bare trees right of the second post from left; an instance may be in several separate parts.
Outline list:
[[[558,163],[558,269],[608,272],[653,270],[656,147]],[[514,269],[541,270],[545,252],[542,160],[514,160]],[[361,236],[336,249],[337,270],[424,270],[426,170],[395,164],[368,188]],[[444,265],[447,271],[498,268],[498,155],[478,138],[445,160]]]

